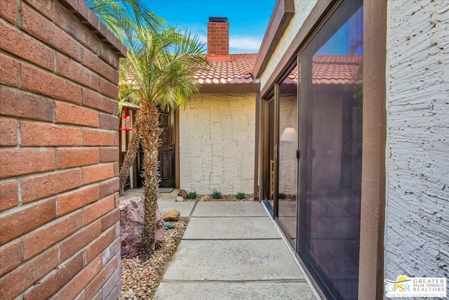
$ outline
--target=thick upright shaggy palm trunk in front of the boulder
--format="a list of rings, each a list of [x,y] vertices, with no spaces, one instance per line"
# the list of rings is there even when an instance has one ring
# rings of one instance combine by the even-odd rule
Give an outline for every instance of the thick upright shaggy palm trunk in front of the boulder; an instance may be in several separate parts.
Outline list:
[[[140,260],[147,261],[154,251],[154,230],[156,229],[156,207],[159,193],[159,144],[162,130],[159,128],[159,110],[153,103],[145,103],[142,114],[141,135],[144,151],[144,223]]]

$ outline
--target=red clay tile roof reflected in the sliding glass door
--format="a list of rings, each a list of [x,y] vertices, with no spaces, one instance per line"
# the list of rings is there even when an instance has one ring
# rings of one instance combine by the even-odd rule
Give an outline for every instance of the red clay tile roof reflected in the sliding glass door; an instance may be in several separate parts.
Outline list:
[[[361,81],[363,56],[314,56],[312,58],[313,84],[354,84]],[[297,82],[297,68],[288,75]]]

